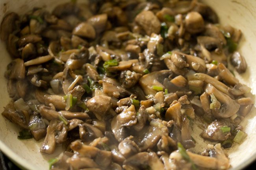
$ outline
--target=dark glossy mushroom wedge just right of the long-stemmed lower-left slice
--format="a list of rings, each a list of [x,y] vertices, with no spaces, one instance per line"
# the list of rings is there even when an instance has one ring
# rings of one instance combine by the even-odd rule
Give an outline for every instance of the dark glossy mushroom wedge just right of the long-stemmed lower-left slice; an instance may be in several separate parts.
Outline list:
[[[98,128],[88,123],[79,124],[79,135],[82,141],[90,141],[98,137],[104,137]]]

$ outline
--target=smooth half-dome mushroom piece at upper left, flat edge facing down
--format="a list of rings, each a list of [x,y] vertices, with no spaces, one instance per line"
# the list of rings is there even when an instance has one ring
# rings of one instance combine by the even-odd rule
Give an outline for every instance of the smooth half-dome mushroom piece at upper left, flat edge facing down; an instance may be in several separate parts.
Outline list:
[[[95,29],[87,22],[78,24],[78,26],[73,29],[72,34],[91,39],[96,37]]]

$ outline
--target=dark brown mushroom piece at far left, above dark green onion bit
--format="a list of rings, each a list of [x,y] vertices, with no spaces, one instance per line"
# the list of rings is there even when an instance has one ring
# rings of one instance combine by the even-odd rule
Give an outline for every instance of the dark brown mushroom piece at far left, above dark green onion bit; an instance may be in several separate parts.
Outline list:
[[[26,110],[16,110],[13,100],[7,104],[2,115],[21,128],[28,129],[29,113]]]

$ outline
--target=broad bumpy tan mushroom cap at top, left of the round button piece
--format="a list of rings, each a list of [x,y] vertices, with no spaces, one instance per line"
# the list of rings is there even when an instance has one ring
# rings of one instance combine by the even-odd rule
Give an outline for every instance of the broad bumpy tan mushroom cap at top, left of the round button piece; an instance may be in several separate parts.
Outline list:
[[[135,22],[144,29],[148,36],[152,33],[160,33],[160,21],[152,11],[142,11],[135,17]]]

